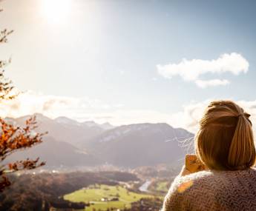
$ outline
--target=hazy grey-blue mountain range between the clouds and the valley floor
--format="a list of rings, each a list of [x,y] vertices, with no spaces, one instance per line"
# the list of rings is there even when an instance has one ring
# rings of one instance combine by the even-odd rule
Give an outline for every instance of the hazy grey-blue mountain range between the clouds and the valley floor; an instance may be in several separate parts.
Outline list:
[[[29,116],[7,120],[21,125],[27,118]],[[66,117],[51,119],[39,113],[36,121],[38,132],[48,132],[44,143],[14,153],[12,161],[39,156],[47,161],[46,167],[177,165],[187,150],[182,147],[183,141],[194,136],[165,123],[114,127],[109,123],[78,122]]]

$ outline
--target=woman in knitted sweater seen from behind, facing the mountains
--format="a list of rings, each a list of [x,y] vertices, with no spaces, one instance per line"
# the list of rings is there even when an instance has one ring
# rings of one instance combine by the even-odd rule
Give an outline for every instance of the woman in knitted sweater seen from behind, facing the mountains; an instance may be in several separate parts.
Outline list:
[[[196,155],[186,156],[163,211],[256,210],[256,155],[249,116],[232,101],[209,104],[195,135]]]

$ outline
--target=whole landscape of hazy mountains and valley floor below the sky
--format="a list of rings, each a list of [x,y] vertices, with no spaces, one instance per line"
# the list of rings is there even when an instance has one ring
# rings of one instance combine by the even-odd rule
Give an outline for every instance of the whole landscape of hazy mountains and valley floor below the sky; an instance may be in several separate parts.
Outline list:
[[[26,118],[7,121],[22,124]],[[193,150],[186,145],[192,133],[165,123],[114,127],[38,113],[36,120],[36,131],[48,132],[42,144],[6,161],[29,156],[46,165],[11,175],[13,185],[0,194],[0,211],[13,206],[21,211],[158,211],[185,154]]]

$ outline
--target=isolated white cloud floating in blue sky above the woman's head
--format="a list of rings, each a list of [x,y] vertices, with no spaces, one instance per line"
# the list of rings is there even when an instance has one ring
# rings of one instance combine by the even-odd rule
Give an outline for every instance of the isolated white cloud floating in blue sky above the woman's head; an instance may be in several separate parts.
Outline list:
[[[202,60],[183,58],[180,63],[157,64],[158,73],[165,78],[180,76],[184,81],[193,81],[198,87],[227,85],[230,82],[226,79],[203,80],[201,76],[206,73],[220,75],[222,73],[232,73],[238,76],[240,73],[247,73],[249,61],[239,53],[224,53],[217,59]]]

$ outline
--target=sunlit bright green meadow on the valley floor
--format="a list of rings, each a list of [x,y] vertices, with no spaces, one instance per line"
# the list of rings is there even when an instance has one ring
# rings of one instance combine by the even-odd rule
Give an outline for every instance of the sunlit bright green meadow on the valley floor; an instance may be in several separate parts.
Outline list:
[[[108,186],[108,185],[93,185],[82,190],[76,190],[68,195],[65,195],[65,200],[73,202],[85,202],[90,203],[90,207],[86,207],[85,210],[107,210],[114,207],[115,210],[123,209],[124,207],[131,207],[131,202],[139,201],[141,198],[151,198],[153,195],[139,194],[136,192],[130,192],[121,186]],[[108,201],[102,201],[102,198],[106,198]],[[113,198],[118,198],[118,201],[111,201]]]

